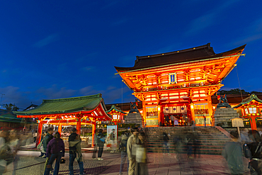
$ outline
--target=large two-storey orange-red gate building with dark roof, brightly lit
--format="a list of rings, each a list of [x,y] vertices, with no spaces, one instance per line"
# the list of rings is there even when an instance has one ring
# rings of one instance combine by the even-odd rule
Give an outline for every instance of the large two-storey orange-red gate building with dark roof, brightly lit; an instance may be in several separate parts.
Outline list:
[[[211,125],[211,96],[235,67],[244,47],[216,54],[210,43],[186,50],[147,55],[134,67],[115,67],[133,95],[142,101],[147,127],[195,122]]]

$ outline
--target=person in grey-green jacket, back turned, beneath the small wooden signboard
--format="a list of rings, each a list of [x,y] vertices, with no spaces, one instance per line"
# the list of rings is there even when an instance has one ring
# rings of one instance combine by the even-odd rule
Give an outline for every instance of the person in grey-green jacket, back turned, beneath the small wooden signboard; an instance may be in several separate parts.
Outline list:
[[[224,145],[222,156],[227,160],[231,174],[244,174],[242,146],[239,142],[239,133],[236,130],[230,132],[231,141]]]

